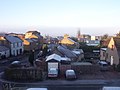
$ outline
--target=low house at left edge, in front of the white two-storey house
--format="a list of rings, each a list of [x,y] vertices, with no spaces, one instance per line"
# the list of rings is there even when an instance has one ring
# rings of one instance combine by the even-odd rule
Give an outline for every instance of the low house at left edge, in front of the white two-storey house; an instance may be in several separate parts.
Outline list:
[[[10,49],[5,46],[0,46],[0,59],[10,56]]]

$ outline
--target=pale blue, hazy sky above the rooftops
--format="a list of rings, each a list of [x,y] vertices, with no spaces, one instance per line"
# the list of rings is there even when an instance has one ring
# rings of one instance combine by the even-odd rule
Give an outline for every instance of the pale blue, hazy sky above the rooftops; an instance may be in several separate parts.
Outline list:
[[[46,35],[120,31],[120,0],[0,0],[0,32]]]

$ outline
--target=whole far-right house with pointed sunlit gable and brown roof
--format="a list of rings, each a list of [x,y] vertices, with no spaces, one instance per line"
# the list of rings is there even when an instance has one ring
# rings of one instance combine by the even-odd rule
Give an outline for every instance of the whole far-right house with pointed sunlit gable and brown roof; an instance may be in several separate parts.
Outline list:
[[[106,60],[111,65],[120,63],[120,38],[112,37],[106,50]]]

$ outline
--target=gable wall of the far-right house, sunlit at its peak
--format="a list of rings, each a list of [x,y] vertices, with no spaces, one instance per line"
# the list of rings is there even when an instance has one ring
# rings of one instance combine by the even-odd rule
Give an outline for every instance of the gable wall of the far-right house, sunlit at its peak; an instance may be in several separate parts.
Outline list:
[[[106,51],[106,59],[108,62],[111,62],[111,56],[113,56],[113,64],[118,65],[119,56],[113,38],[111,38]]]

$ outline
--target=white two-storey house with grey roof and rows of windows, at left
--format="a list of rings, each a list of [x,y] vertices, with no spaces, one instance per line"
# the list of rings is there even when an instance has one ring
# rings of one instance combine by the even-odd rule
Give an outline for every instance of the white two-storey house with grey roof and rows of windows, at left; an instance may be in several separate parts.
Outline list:
[[[0,44],[10,49],[11,56],[17,56],[23,53],[23,41],[17,36],[1,35]]]

